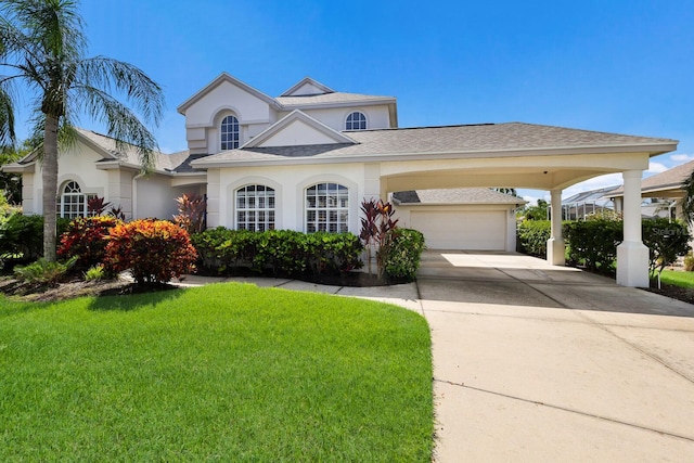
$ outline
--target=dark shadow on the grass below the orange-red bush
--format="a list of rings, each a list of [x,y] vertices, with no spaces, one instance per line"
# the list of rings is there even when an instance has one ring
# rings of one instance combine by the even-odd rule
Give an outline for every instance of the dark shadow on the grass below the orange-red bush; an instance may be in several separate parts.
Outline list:
[[[99,297],[92,299],[89,309],[97,311],[138,310],[177,299],[183,292],[184,290],[167,283],[131,283],[102,292]]]

